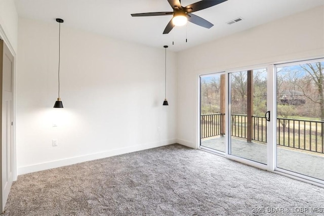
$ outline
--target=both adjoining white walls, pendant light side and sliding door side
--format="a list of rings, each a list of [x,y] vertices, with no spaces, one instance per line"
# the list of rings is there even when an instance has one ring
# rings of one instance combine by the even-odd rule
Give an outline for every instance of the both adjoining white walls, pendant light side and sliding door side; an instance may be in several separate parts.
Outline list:
[[[19,19],[18,174],[175,141],[196,148],[198,75],[324,57],[324,7],[177,54],[168,52],[168,107],[161,106],[163,48],[66,28],[63,23],[61,98],[65,108],[53,109],[57,34],[54,20],[49,25]],[[52,147],[52,139],[58,139],[57,147]]]

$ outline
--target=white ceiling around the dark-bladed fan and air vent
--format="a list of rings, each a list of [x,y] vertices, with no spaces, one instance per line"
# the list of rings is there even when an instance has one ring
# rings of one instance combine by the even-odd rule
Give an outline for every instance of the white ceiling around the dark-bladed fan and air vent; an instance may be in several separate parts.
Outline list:
[[[197,1],[182,0],[181,4],[187,6]],[[188,23],[187,27],[175,27],[169,34],[162,33],[172,16],[131,16],[133,13],[173,11],[167,0],[15,0],[15,4],[19,17],[48,23],[56,23],[55,18],[62,18],[65,26],[161,49],[169,45],[169,50],[177,52],[324,5],[324,0],[228,0],[193,13],[213,23],[212,28]],[[226,24],[238,17],[243,20]]]

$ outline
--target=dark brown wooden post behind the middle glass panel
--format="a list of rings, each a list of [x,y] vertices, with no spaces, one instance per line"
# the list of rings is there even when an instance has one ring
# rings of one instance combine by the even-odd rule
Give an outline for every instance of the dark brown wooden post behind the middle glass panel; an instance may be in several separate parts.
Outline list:
[[[253,70],[248,70],[248,83],[247,83],[247,115],[248,115],[248,124],[247,124],[247,141],[252,142],[252,133],[253,133]]]

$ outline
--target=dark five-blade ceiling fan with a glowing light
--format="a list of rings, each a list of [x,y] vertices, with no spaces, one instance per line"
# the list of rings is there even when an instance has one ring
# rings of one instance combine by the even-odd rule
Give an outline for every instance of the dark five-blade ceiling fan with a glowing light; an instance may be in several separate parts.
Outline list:
[[[149,17],[149,16],[165,16],[173,15],[173,18],[168,23],[167,27],[164,29],[164,34],[168,34],[174,26],[181,26],[187,23],[187,21],[194,23],[196,25],[211,28],[214,24],[208,22],[207,20],[198,17],[192,12],[200,11],[206,8],[213,7],[220,3],[226,2],[227,0],[203,0],[200,2],[193,3],[186,7],[181,6],[180,0],[168,0],[169,4],[173,8],[173,12],[151,12],[151,13],[139,13],[131,14],[132,17]]]

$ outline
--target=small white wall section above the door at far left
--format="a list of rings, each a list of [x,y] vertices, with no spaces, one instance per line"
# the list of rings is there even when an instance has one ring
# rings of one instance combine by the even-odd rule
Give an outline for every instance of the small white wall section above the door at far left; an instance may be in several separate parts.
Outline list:
[[[17,53],[18,15],[13,0],[0,1],[0,37]],[[5,38],[7,37],[7,38]]]

